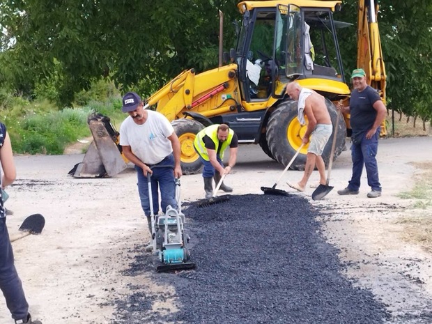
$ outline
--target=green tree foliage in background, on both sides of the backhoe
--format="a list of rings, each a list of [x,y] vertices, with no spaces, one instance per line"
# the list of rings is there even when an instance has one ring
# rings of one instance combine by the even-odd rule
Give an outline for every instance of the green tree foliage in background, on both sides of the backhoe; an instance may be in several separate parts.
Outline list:
[[[388,106],[431,120],[432,2],[376,2]],[[111,80],[122,92],[134,89],[146,97],[183,70],[202,72],[217,66],[219,10],[224,13],[224,49],[233,47],[238,1],[154,4],[0,0],[1,87],[30,100],[47,98],[59,107],[101,100],[105,90],[86,92],[100,79]],[[356,65],[357,6],[357,0],[346,0],[334,15],[353,23],[339,30],[348,82]]]

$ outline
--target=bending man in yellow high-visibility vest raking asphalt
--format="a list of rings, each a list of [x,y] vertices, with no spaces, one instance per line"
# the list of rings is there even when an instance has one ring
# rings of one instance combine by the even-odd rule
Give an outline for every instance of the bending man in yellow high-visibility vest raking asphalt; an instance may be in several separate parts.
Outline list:
[[[229,161],[224,167],[224,151],[229,146]],[[225,124],[210,125],[196,134],[194,141],[196,153],[203,162],[203,179],[206,198],[213,196],[213,178],[216,185],[222,176],[231,172],[237,160],[238,138],[233,130]],[[222,183],[220,189],[224,192],[232,192],[233,189]]]

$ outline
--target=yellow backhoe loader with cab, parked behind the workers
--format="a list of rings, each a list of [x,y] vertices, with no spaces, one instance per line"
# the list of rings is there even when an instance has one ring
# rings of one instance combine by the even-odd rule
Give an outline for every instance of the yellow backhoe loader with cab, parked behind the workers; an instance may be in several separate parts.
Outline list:
[[[338,128],[334,158],[340,155],[350,136],[349,116],[335,125],[334,103],[350,95],[337,39],[337,30],[350,24],[334,20],[333,13],[340,8],[341,1],[242,1],[236,48],[223,55],[229,63],[199,74],[185,70],[145,100],[146,108],[172,122],[180,139],[183,173],[201,171],[194,137],[212,123],[228,124],[240,144],[259,144],[286,166],[306,129],[298,122],[297,102],[284,95],[286,84],[293,80],[325,96],[333,127]],[[378,7],[373,0],[360,0],[358,8],[357,66],[353,68],[367,72],[369,84],[385,101]],[[323,152],[325,164],[331,147],[332,140]],[[307,146],[291,169],[304,169],[306,155]]]

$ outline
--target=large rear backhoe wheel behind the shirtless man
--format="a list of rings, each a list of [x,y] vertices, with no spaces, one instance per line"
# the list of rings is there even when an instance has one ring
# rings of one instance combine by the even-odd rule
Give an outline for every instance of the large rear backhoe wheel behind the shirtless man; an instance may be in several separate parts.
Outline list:
[[[291,158],[295,155],[302,143],[301,134],[295,134],[296,138],[288,139],[288,127],[291,123],[298,123],[297,120],[297,101],[288,100],[282,102],[275,111],[272,112],[267,125],[267,139],[270,152],[275,157],[277,162],[286,166]],[[333,103],[325,99],[325,105],[330,112],[332,118],[333,131],[334,123],[336,123],[337,109]],[[336,147],[334,149],[334,159],[338,157],[344,150],[346,141],[346,125],[344,118],[339,118],[339,125],[337,125],[338,133],[336,139]],[[300,129],[300,127],[299,127]],[[292,132],[291,132],[292,134]],[[327,145],[323,151],[323,160],[327,166],[330,160],[330,151],[332,149],[333,137],[330,137]],[[293,170],[304,170],[304,164],[306,164],[306,154],[300,153],[291,165]]]

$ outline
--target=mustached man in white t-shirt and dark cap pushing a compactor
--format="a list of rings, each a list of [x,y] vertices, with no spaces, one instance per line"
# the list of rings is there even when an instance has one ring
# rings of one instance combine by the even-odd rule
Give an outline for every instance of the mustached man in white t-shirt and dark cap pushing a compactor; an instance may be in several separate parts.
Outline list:
[[[123,96],[121,110],[129,116],[120,127],[120,145],[125,157],[135,164],[139,199],[152,233],[147,174],[151,174],[154,213],[160,210],[158,187],[162,212],[165,213],[167,206],[177,209],[175,180],[182,176],[180,141],[167,117],[144,109],[144,102],[137,93],[128,92]],[[153,245],[148,242],[146,250],[151,249]]]

